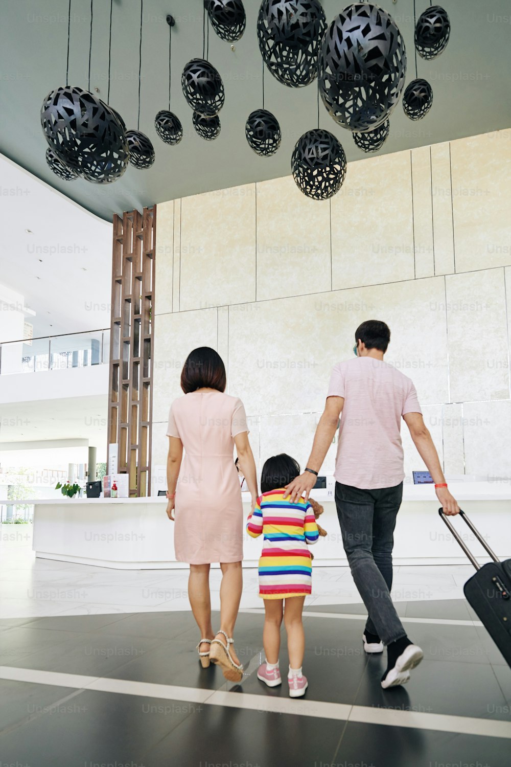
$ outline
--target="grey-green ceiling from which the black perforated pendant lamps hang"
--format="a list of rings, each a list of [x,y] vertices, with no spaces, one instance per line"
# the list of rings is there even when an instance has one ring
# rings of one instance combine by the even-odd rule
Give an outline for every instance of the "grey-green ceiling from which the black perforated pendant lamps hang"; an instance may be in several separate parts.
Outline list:
[[[149,170],[129,166],[116,183],[98,186],[77,179],[64,182],[51,173],[44,160],[46,142],[39,112],[44,97],[65,81],[67,55],[67,0],[3,2],[2,88],[0,114],[4,116],[2,151],[18,165],[59,189],[103,219],[154,202],[163,202],[211,189],[253,183],[290,173],[290,156],[302,133],[316,127],[316,86],[287,88],[268,71],[264,77],[265,107],[274,112],[282,128],[280,150],[270,158],[256,156],[247,145],[244,124],[261,106],[261,58],[255,33],[259,0],[244,0],[247,28],[234,44],[221,41],[210,29],[209,60],[224,81],[225,104],[220,113],[217,140],[201,140],[192,128],[192,110],[182,95],[180,78],[185,63],[202,54],[202,0],[144,0],[140,130],[156,148]],[[346,0],[324,0],[327,21],[347,5]],[[385,0],[408,49],[407,82],[414,78],[414,0]],[[418,75],[431,82],[434,104],[419,122],[408,120],[401,109],[391,117],[391,133],[381,153],[486,133],[509,127],[509,0],[443,0],[450,15],[451,37],[434,61],[418,58]],[[418,14],[427,0],[417,0]],[[171,109],[182,120],[184,137],[167,146],[154,129],[156,113],[167,108],[169,27],[172,13]],[[140,0],[113,0],[110,104],[122,114],[127,127],[136,127],[139,74]],[[93,4],[90,89],[99,88],[107,99],[110,3]],[[87,87],[90,35],[90,0],[71,0],[69,83]],[[320,124],[334,133],[348,160],[364,155],[350,133],[337,126],[321,106]],[[349,173],[349,170],[348,170]],[[58,231],[62,217],[54,222]],[[4,230],[5,231],[5,230]]]

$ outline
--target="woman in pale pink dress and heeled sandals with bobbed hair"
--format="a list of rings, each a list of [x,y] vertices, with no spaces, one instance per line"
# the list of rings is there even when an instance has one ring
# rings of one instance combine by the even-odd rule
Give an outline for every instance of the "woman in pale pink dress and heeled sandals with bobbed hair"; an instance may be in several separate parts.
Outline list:
[[[175,556],[190,565],[188,597],[201,631],[201,665],[218,663],[226,679],[239,682],[243,666],[232,634],[241,600],[244,519],[234,446],[252,509],[257,478],[243,403],[224,393],[225,385],[224,363],[214,349],[200,347],[188,354],[181,374],[185,396],[174,400],[169,413],[167,515],[175,520]],[[216,634],[209,593],[212,562],[219,562],[222,571]]]

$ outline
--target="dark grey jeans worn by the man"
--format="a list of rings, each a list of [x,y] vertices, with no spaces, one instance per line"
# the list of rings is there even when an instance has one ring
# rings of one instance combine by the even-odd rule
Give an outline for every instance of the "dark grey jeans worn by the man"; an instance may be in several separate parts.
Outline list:
[[[403,483],[378,490],[361,490],[336,482],[336,507],[342,545],[356,588],[367,608],[365,630],[384,644],[406,636],[392,604],[392,547],[395,518]]]

